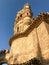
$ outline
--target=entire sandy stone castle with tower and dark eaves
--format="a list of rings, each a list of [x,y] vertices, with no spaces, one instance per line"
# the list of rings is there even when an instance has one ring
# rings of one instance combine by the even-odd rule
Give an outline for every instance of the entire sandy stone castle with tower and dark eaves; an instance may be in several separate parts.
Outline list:
[[[49,12],[33,17],[27,3],[14,22],[10,51],[0,51],[0,65],[49,65]]]

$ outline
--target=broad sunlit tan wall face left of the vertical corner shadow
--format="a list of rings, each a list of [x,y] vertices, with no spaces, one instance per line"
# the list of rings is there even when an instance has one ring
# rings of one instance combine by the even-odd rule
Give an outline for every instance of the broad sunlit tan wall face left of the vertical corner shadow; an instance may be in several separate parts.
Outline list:
[[[12,42],[11,54],[17,58],[18,63],[23,63],[37,56],[36,28],[27,36],[15,39]]]

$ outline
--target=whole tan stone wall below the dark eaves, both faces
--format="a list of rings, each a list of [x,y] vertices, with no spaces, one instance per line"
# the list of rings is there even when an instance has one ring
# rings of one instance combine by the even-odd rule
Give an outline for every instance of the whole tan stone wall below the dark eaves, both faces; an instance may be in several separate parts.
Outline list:
[[[31,58],[40,56],[46,61],[49,59],[49,25],[42,22],[37,28],[34,28],[27,37],[20,37],[13,40],[10,53],[17,58],[18,63],[23,63]],[[40,50],[38,48],[40,47]],[[45,62],[44,61],[44,62]]]

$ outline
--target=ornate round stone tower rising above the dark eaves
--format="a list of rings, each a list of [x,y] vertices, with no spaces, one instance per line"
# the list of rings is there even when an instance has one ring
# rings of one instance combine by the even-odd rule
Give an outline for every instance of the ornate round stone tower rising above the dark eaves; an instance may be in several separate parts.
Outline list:
[[[16,15],[14,23],[14,35],[24,32],[31,24],[31,20],[32,11],[30,9],[30,5],[27,3],[24,5],[24,8],[20,10]]]

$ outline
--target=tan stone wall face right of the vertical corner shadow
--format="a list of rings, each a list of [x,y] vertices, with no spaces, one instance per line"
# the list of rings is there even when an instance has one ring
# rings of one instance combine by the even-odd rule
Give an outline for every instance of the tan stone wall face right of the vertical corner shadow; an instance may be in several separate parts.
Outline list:
[[[41,48],[42,57],[45,62],[49,60],[49,24],[42,22],[37,28],[39,44]]]

